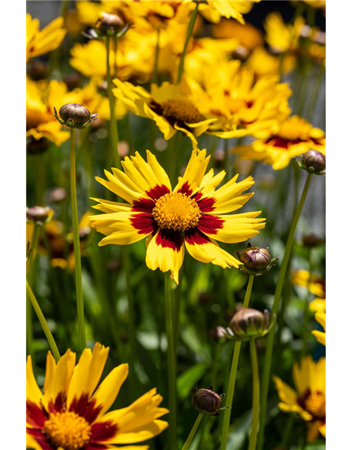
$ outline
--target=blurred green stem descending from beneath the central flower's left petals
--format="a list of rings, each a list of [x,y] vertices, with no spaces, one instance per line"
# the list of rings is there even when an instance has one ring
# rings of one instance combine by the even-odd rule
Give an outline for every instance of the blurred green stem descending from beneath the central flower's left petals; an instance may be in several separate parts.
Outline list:
[[[136,352],[136,326],[135,326],[135,302],[131,290],[131,262],[129,260],[128,248],[122,248],[124,273],[126,274],[126,295],[128,299],[128,338],[129,338],[129,368],[130,373],[130,387],[131,393],[135,396],[136,390],[136,375],[135,362],[137,361]]]

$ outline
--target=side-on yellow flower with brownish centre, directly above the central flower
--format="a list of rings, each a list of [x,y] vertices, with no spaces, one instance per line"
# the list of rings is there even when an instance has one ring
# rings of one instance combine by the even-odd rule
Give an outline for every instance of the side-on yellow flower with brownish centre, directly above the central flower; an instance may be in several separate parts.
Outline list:
[[[168,141],[177,131],[182,131],[197,146],[196,136],[203,134],[209,124],[216,118],[206,118],[199,108],[204,108],[204,96],[183,77],[180,84],[164,82],[161,86],[151,85],[151,93],[141,86],[114,79],[117,89],[114,95],[121,100],[126,108],[140,117],[147,117],[156,122],[159,130]]]

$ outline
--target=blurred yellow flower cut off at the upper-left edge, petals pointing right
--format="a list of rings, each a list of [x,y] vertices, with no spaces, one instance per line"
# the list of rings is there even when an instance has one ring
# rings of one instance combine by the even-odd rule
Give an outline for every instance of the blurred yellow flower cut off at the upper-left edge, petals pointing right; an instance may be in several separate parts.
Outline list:
[[[39,30],[39,20],[32,19],[30,14],[25,16],[26,22],[26,62],[35,56],[44,55],[60,46],[65,37],[63,18],[59,17],[48,24],[44,30]]]

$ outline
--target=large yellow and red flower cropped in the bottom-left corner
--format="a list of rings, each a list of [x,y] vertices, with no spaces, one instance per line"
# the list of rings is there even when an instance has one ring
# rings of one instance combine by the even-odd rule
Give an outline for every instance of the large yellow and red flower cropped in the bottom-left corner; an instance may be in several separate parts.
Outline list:
[[[109,348],[95,344],[84,349],[76,366],[76,354],[67,350],[55,363],[48,352],[44,394],[27,359],[27,442],[41,450],[105,450],[116,444],[135,444],[159,435],[168,427],[159,417],[162,397],[152,389],[124,409],[107,412],[128,376],[128,364],[114,368],[98,386]],[[147,450],[148,446],[125,446]]]

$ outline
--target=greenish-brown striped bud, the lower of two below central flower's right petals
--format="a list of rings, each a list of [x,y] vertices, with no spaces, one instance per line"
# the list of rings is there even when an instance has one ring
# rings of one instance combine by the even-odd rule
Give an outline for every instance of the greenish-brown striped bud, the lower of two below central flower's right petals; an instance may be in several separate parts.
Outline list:
[[[241,308],[234,314],[227,328],[228,337],[233,340],[249,340],[265,336],[273,326],[275,316],[270,323],[270,312],[265,309]]]

